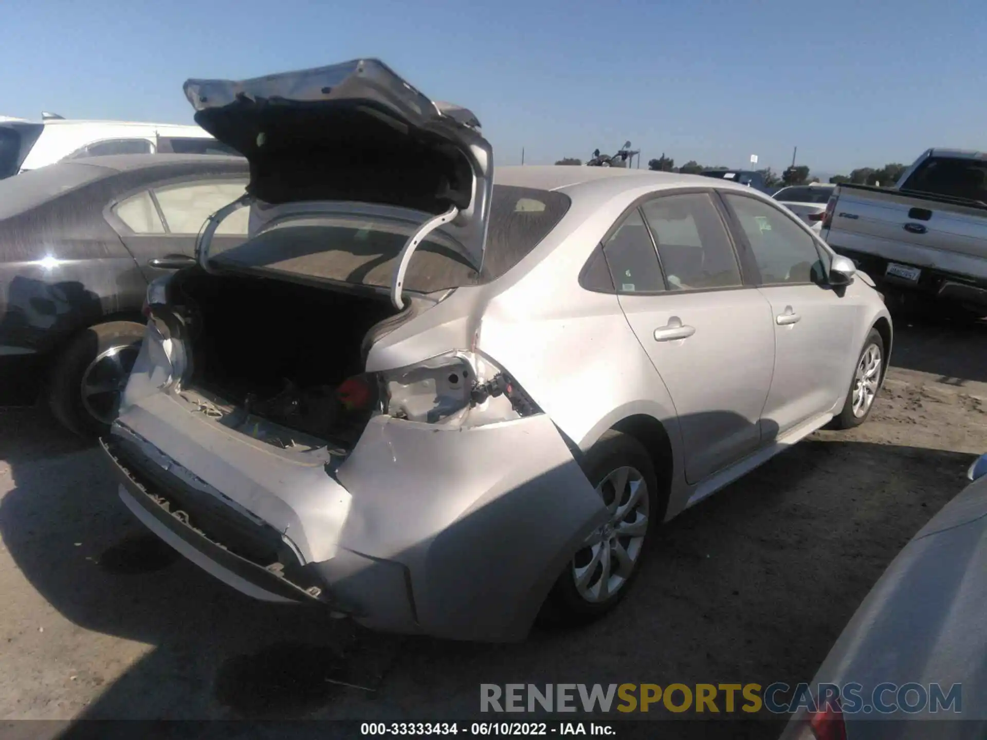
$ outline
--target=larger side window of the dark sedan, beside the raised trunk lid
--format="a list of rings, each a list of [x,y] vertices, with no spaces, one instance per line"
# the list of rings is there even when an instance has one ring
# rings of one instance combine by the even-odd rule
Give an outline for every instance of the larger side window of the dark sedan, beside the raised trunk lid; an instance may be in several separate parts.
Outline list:
[[[205,220],[244,194],[243,181],[185,183],[154,188],[165,224],[172,234],[198,234]],[[220,223],[216,234],[247,236],[250,209],[234,211]]]

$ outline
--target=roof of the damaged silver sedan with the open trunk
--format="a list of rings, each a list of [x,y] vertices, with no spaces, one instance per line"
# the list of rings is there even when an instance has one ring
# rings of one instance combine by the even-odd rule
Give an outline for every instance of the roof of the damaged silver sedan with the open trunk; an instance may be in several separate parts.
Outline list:
[[[668,187],[724,187],[749,192],[750,188],[729,181],[711,183],[701,175],[630,170],[622,167],[572,167],[535,165],[500,167],[493,173],[494,185],[514,185],[541,190],[561,190],[568,194],[578,190],[580,196],[630,190],[644,185],[655,189]]]

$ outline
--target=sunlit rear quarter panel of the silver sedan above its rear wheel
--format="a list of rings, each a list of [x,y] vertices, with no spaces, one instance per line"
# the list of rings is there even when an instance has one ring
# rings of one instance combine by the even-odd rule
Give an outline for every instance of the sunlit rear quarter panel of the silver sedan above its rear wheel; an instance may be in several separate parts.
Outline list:
[[[655,185],[623,179],[564,190],[569,212],[529,255],[490,285],[456,289],[448,298],[382,337],[368,371],[403,367],[450,349],[477,349],[515,378],[579,450],[585,452],[624,418],[660,421],[675,472],[667,518],[688,499],[675,407],[631,330],[615,295],[578,284],[579,271],[607,230]],[[602,194],[602,199],[600,195]]]

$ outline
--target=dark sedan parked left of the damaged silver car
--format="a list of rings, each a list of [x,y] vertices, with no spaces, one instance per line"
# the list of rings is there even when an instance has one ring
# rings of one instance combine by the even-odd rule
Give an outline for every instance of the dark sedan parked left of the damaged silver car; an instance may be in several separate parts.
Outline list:
[[[200,155],[93,157],[0,181],[0,404],[43,395],[70,429],[106,432],[148,281],[188,263],[206,216],[246,183],[242,158]],[[238,215],[221,240],[246,231]]]

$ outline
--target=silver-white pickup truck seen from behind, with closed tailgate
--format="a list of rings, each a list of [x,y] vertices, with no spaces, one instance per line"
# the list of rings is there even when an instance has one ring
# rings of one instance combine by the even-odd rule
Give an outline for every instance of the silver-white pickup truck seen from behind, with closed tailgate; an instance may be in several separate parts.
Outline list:
[[[929,149],[893,187],[839,185],[821,236],[887,292],[987,316],[987,153]]]

